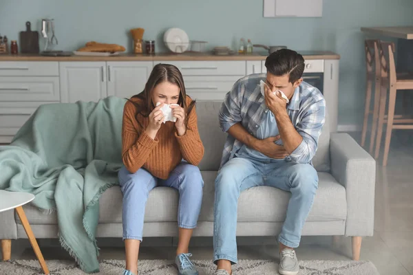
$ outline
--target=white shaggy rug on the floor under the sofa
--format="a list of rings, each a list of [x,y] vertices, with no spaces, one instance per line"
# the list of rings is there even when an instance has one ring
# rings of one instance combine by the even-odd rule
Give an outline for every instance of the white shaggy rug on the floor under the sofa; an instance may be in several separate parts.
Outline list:
[[[78,269],[74,261],[46,261],[50,275],[85,275]],[[212,275],[215,265],[211,261],[193,261],[200,275]],[[377,275],[376,267],[365,261],[299,261],[299,275]],[[100,261],[100,272],[96,274],[121,275],[125,261]],[[234,275],[274,275],[278,274],[278,264],[274,261],[240,260],[234,265]],[[172,261],[142,260],[139,261],[140,275],[178,274]],[[41,275],[43,274],[37,261],[0,262],[1,275]]]

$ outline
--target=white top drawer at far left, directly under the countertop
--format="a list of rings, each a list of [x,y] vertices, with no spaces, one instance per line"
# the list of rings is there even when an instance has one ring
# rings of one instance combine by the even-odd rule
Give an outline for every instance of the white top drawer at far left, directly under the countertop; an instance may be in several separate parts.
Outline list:
[[[54,61],[1,61],[0,76],[59,76]]]

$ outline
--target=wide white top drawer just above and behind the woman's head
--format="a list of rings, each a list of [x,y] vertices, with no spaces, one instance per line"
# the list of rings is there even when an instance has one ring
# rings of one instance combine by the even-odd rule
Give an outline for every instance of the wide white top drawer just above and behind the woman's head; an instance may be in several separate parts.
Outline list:
[[[180,69],[182,76],[245,76],[246,73],[245,61],[160,61],[159,63],[175,65]]]

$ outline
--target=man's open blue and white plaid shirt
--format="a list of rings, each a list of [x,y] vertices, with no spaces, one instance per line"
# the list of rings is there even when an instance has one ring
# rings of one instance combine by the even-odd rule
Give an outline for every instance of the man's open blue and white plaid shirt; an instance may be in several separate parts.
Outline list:
[[[264,126],[264,113],[269,111],[260,91],[260,80],[265,81],[266,74],[244,76],[237,80],[232,90],[226,94],[220,110],[222,131],[226,132],[231,126],[241,122],[251,135],[257,136],[258,127]],[[301,144],[289,155],[289,160],[303,164],[311,163],[317,151],[325,112],[326,100],[319,89],[303,81],[295,89],[293,98],[287,105],[288,116],[297,132],[303,137]],[[275,143],[283,145],[282,140],[277,140]],[[242,145],[242,142],[228,135],[222,153],[221,166],[232,159]]]

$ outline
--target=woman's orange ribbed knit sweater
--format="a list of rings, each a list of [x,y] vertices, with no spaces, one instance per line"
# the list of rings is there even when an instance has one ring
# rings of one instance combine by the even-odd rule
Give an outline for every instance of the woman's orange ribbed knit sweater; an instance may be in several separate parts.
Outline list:
[[[131,100],[138,102],[139,99]],[[187,106],[191,101],[187,97]],[[143,167],[153,176],[167,179],[182,158],[195,166],[200,163],[204,146],[198,133],[195,107],[188,115],[187,132],[182,136],[178,136],[175,123],[168,121],[162,123],[155,140],[152,140],[145,132],[148,124],[149,118],[141,114],[136,118],[135,105],[126,102],[123,109],[122,159],[130,173],[136,173]]]

